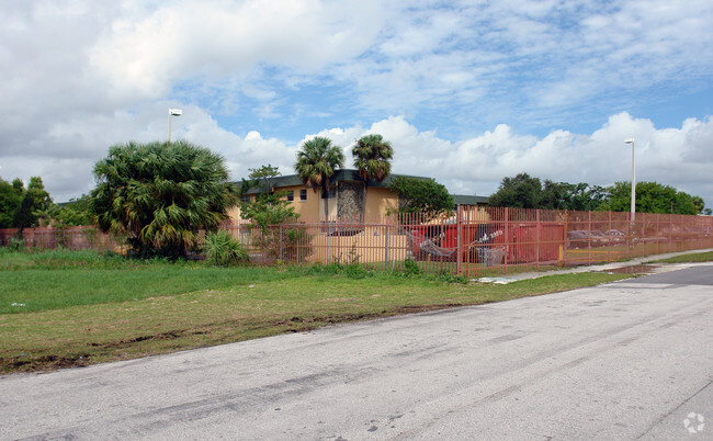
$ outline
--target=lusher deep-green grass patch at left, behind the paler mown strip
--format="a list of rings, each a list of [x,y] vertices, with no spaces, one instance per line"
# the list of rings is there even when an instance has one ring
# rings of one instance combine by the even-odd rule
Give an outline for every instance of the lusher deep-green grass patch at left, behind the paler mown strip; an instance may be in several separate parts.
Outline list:
[[[136,261],[95,251],[2,253],[0,268],[5,270],[0,279],[0,314],[143,299],[293,276],[261,268]]]

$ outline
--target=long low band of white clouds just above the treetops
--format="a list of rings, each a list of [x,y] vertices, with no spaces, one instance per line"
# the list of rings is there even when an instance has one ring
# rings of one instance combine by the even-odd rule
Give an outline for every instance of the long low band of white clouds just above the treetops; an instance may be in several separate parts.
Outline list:
[[[58,146],[83,146],[57,158],[16,155],[2,158],[0,172],[4,179],[15,176],[27,180],[42,176],[57,201],[88,192],[92,186],[93,163],[106,155],[110,144],[94,146],[91,140],[103,133],[106,138],[121,137],[112,129],[115,120],[124,129],[135,127],[138,142],[156,139],[156,131],[166,129],[166,120],[154,117],[150,131],[140,131],[149,115],[163,113],[166,104],[156,104],[116,118],[95,118],[93,131],[77,131],[72,125],[57,126],[53,132]],[[220,128],[205,111],[184,106],[184,117],[176,118],[174,139],[188,139],[222,154],[233,179],[248,174],[249,168],[271,163],[283,174],[294,173],[295,155],[301,143],[288,144],[278,138],[264,138],[251,131],[245,136]],[[190,122],[189,122],[190,121]],[[344,148],[347,167],[353,167],[350,147],[359,137],[380,133],[395,150],[393,172],[432,177],[452,192],[488,195],[497,190],[503,177],[528,172],[541,179],[565,182],[587,182],[609,185],[631,179],[631,146],[624,138],[636,139],[637,181],[657,181],[703,196],[713,202],[713,184],[708,177],[713,169],[713,121],[687,120],[680,128],[656,128],[650,121],[634,118],[627,113],[613,115],[591,134],[555,131],[540,138],[519,135],[501,124],[493,131],[457,142],[421,132],[404,116],[391,116],[370,127],[359,125],[335,127],[307,135],[327,136]],[[303,139],[303,140],[304,140]],[[115,142],[123,142],[115,140]],[[72,155],[73,152],[73,155]],[[79,155],[78,155],[79,152]]]

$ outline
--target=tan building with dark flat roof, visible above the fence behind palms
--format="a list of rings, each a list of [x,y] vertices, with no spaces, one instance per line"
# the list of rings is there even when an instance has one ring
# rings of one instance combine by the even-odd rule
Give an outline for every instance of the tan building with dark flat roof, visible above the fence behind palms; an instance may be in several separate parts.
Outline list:
[[[340,169],[329,180],[329,192],[321,194],[321,189],[305,185],[297,174],[281,176],[270,179],[271,191],[283,191],[295,212],[299,214],[299,222],[318,223],[332,219],[364,220],[380,223],[389,213],[398,208],[398,195],[388,188],[392,180],[403,174],[391,174],[383,182],[369,181],[364,192],[364,181],[358,170]],[[420,177],[411,177],[420,178]],[[420,178],[426,179],[426,178]],[[258,193],[264,192],[262,186],[253,186],[242,195],[242,202],[252,202]],[[364,195],[366,204],[364,204]],[[327,212],[325,213],[324,199],[327,197]],[[487,197],[471,195],[453,195],[455,205],[483,206],[487,205]],[[365,213],[362,216],[362,211]],[[229,212],[234,223],[244,223],[240,219],[240,208],[235,207]]]

